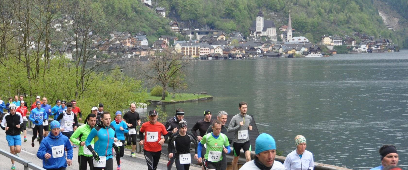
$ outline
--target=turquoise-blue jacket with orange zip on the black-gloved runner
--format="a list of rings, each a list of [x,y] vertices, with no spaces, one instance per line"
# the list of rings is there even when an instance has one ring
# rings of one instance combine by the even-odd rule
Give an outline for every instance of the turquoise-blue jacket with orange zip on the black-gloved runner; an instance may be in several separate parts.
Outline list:
[[[112,144],[114,138],[115,128],[112,126],[105,127],[102,125],[102,121],[99,121],[86,138],[85,146],[88,147],[91,145],[91,141],[94,139],[95,144],[93,150],[95,150],[99,156],[106,156],[106,160],[108,160],[112,158]]]

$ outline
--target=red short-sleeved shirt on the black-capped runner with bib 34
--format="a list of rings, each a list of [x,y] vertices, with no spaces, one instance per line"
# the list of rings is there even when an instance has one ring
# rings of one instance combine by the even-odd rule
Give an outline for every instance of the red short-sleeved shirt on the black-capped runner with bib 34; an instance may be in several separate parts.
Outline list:
[[[162,146],[159,145],[159,141],[160,139],[162,139],[161,135],[167,135],[167,131],[166,128],[164,127],[164,125],[160,122],[157,121],[156,124],[150,124],[150,121],[148,122],[144,122],[142,124],[142,127],[140,128],[140,132],[144,133],[144,150],[147,150],[149,152],[159,152],[160,150],[162,150]],[[151,132],[155,133],[157,132],[157,136],[151,136]],[[154,139],[155,141],[148,141],[147,137],[157,137],[157,140]],[[152,140],[152,139],[150,139]]]

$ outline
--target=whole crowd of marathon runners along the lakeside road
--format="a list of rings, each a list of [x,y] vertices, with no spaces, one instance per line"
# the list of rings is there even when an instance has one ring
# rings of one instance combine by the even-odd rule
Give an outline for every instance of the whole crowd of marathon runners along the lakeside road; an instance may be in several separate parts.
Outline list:
[[[238,170],[240,156],[246,159],[240,170],[314,169],[313,154],[306,150],[306,138],[302,135],[295,137],[296,149],[287,155],[282,164],[275,161],[275,139],[269,134],[262,133],[255,140],[255,157],[251,159],[249,133],[253,128],[252,117],[246,114],[248,109],[246,102],[239,103],[239,113],[231,118],[228,127],[225,126],[228,113],[219,111],[217,119],[211,119],[211,111],[205,110],[204,119],[197,121],[190,131],[182,108],[178,108],[175,116],[165,124],[157,121],[156,110],[150,110],[149,121],[141,124],[140,115],[135,111],[135,104],[131,104],[130,110],[123,116],[121,111],[116,111],[114,120],[111,121],[111,114],[105,112],[103,104],[100,103],[98,107],[91,108],[91,114],[86,116],[84,124],[78,126],[78,121],[82,121],[82,113],[75,100],[71,102],[56,100],[53,107],[47,103],[47,98],[40,100],[40,96],[37,96],[31,109],[28,109],[23,96],[15,96],[14,101],[9,98],[7,104],[0,99],[0,110],[7,109],[7,113],[2,114],[1,128],[6,130],[10,152],[18,156],[21,150],[21,133],[24,133],[24,142],[27,141],[26,115],[29,114],[28,119],[33,128],[31,146],[35,146],[34,141],[37,139],[40,144],[37,157],[43,160],[42,167],[47,170],[65,170],[67,166],[71,166],[73,148],[77,146],[79,170],[86,170],[88,166],[91,170],[113,170],[113,156],[116,157],[116,169],[120,170],[124,146],[130,145],[131,157],[136,157],[137,144],[143,146],[148,170],[156,170],[162,144],[166,141],[169,153],[168,170],[171,170],[173,164],[177,170],[188,170],[192,159],[201,163],[204,170],[225,170],[226,154],[230,152],[234,155],[230,160],[233,170]],[[51,115],[55,119],[49,123],[48,118]],[[139,143],[136,140],[138,126],[140,126]],[[225,135],[227,132],[233,132],[234,137],[228,138]],[[192,147],[195,150],[193,156],[190,152]],[[381,166],[373,170],[383,170],[385,166],[396,166],[398,163],[395,147],[383,147],[380,149]],[[244,155],[240,155],[241,149]],[[16,169],[13,160],[11,163],[11,169]]]

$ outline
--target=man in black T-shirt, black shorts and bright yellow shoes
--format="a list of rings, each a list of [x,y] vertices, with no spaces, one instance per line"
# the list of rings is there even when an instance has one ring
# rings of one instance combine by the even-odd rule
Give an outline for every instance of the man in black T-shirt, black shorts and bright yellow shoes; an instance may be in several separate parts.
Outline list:
[[[127,127],[129,128],[129,133],[127,133],[127,145],[130,145],[132,142],[132,152],[131,157],[136,157],[135,149],[136,149],[136,125],[140,126],[140,117],[139,113],[136,111],[136,105],[134,103],[130,104],[130,110],[123,115],[123,121],[126,123]]]

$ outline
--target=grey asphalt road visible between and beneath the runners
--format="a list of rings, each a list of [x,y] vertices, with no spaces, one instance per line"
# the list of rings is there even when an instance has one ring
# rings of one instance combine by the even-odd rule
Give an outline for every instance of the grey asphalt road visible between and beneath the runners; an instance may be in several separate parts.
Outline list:
[[[20,158],[26,159],[28,161],[31,161],[32,163],[35,163],[36,165],[42,167],[42,160],[38,159],[36,153],[38,151],[38,147],[40,144],[38,144],[38,141],[35,139],[35,146],[31,147],[31,137],[33,136],[33,132],[31,129],[27,129],[27,142],[24,142],[24,136],[20,135],[22,139],[22,144],[21,144],[21,152],[19,154]],[[3,150],[9,151],[10,148],[7,144],[6,141],[6,134],[4,130],[0,130],[0,148]],[[134,170],[134,169],[140,169],[140,170],[147,170],[147,165],[146,161],[144,159],[144,155],[142,154],[136,154],[136,158],[130,157],[130,150],[125,150],[124,156],[120,159],[121,160],[121,170]],[[163,158],[163,155],[162,155]],[[0,155],[0,170],[9,170],[11,169],[11,160],[3,155]],[[167,157],[164,159],[161,159],[159,162],[159,165],[157,167],[158,170],[167,170],[166,165],[167,165]],[[4,161],[4,162],[3,162]],[[67,167],[67,170],[78,170],[78,148],[73,148],[73,164],[71,166]],[[113,157],[113,169],[115,170],[117,167],[116,164],[116,158]],[[16,170],[23,170],[24,166],[20,163],[16,162]],[[88,168],[89,169],[89,168]],[[196,167],[195,165],[191,164],[190,166],[191,170],[201,170],[201,168]],[[175,164],[173,164],[172,170],[176,170]]]

